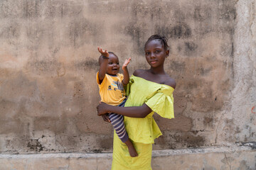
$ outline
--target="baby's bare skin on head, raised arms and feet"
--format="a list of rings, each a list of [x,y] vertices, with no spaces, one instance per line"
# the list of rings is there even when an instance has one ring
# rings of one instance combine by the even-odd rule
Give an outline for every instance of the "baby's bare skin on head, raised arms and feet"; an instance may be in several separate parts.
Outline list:
[[[100,69],[99,69],[99,80],[102,83],[102,80],[105,78],[105,74],[110,74],[112,76],[117,75],[119,72],[119,60],[118,57],[112,53],[107,52],[107,50],[102,50],[102,48],[98,47],[98,51],[101,53],[102,56],[100,57]],[[107,58],[106,58],[107,57]],[[127,85],[129,83],[129,72],[127,69],[127,65],[131,61],[131,58],[125,60],[124,64],[122,65],[124,79],[122,80],[122,84]],[[110,123],[110,118],[107,114],[102,115],[103,120]],[[137,157],[138,154],[132,142],[128,139],[124,142],[129,150],[129,154],[131,157]]]

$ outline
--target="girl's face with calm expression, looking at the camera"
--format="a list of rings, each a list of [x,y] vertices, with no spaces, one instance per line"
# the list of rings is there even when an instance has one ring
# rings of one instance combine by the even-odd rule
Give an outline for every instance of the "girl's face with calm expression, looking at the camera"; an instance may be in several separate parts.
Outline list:
[[[169,50],[164,49],[161,40],[151,40],[145,46],[146,61],[151,67],[164,66],[164,60],[169,56]]]

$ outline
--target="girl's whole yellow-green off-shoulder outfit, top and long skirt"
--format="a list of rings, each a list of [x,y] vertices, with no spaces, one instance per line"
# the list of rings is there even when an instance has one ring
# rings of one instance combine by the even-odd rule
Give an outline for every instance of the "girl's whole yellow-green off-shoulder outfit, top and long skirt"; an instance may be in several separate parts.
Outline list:
[[[158,113],[163,118],[174,118],[173,92],[174,88],[171,86],[157,84],[134,75],[130,77],[127,86],[129,97],[124,107],[142,106],[146,103],[152,112],[146,118],[124,116],[125,129],[139,156],[130,157],[127,146],[114,132],[112,170],[151,169],[152,144],[156,137],[162,135],[152,115]]]

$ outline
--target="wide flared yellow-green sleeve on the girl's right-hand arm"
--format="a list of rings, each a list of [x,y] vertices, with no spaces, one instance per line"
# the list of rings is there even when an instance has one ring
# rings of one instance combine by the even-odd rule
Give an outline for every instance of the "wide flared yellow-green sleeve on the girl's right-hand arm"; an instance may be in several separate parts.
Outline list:
[[[174,118],[174,89],[166,88],[164,90],[159,89],[154,96],[146,100],[146,105],[151,108],[152,111],[159,114],[163,118]]]

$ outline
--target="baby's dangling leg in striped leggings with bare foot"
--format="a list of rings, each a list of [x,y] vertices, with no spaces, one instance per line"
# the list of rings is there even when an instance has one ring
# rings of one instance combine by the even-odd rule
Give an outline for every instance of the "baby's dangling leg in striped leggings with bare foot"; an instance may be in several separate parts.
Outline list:
[[[111,124],[113,125],[114,130],[117,133],[117,136],[120,140],[122,140],[122,142],[127,145],[131,157],[137,157],[138,154],[136,152],[136,149],[132,145],[132,142],[129,140],[129,136],[124,128],[124,117],[115,113],[110,113],[109,117]]]

